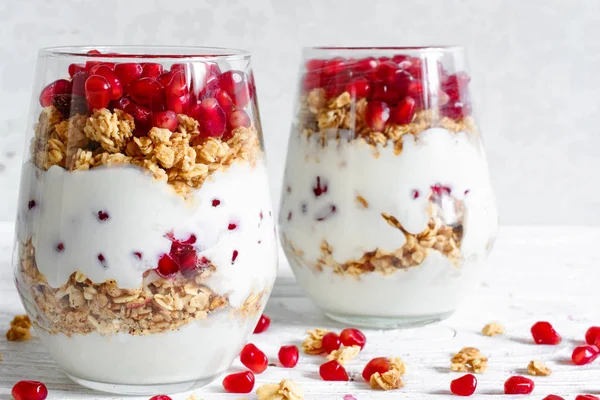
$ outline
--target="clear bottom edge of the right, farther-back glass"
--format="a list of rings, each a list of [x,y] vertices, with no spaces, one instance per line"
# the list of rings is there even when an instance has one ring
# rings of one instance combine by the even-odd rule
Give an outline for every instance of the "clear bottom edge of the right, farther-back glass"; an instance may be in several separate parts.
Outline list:
[[[398,328],[414,328],[432,324],[444,320],[451,316],[454,311],[444,312],[440,314],[429,314],[419,316],[398,316],[398,317],[373,317],[361,315],[345,315],[325,311],[325,315],[336,322],[341,322],[347,326],[357,326],[361,328],[374,329],[398,329]]]

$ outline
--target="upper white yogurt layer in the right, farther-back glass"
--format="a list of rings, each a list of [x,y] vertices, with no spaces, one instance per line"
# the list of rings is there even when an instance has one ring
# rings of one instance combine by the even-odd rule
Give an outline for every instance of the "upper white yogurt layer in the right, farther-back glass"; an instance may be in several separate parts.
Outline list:
[[[381,213],[396,217],[410,233],[424,231],[434,185],[449,187],[455,199],[464,200],[463,256],[485,254],[495,235],[497,215],[479,138],[431,128],[417,138],[404,135],[402,140],[402,152],[395,155],[393,146],[375,149],[364,141],[338,145],[331,139],[322,147],[316,137],[290,139],[284,182],[290,191],[284,189],[280,224],[294,247],[303,251],[304,260],[317,261],[323,239],[341,263],[375,249],[397,250],[406,238]],[[320,196],[313,192],[317,177],[327,185],[327,192]],[[419,193],[416,199],[415,191]],[[368,208],[357,196],[368,202]],[[331,206],[335,213],[328,216]],[[445,211],[447,223],[456,223],[452,210]]]

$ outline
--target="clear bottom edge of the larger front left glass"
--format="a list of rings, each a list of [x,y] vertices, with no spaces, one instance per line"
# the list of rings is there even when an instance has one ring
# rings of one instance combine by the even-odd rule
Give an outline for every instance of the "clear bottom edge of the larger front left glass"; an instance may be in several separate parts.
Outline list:
[[[88,389],[97,390],[100,392],[116,393],[123,395],[157,395],[157,394],[172,394],[185,392],[190,389],[199,388],[206,386],[215,380],[220,374],[213,375],[208,378],[176,382],[176,383],[165,383],[165,384],[143,384],[143,385],[129,385],[129,384],[116,384],[116,383],[105,383],[89,381],[87,379],[77,378],[73,375],[67,374],[69,378],[75,383],[84,386]]]

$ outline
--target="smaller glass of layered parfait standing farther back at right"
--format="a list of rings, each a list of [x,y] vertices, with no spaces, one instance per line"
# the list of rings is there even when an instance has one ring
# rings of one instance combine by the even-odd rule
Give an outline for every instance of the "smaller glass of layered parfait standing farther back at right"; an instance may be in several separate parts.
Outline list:
[[[463,49],[303,58],[279,215],[298,282],[345,324],[449,316],[497,230]]]

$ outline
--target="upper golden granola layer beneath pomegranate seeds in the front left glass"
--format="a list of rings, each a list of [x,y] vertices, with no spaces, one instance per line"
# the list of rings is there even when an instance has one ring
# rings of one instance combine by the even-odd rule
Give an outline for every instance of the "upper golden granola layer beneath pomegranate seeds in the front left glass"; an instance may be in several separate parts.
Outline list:
[[[185,195],[198,189],[215,171],[236,160],[254,163],[260,148],[256,130],[250,126],[233,129],[227,140],[203,137],[198,122],[179,114],[175,132],[152,128],[136,135],[131,115],[106,108],[89,117],[62,119],[54,107],[45,107],[35,128],[32,160],[47,170],[53,165],[68,171],[88,170],[103,165],[132,164],[168,182]]]

